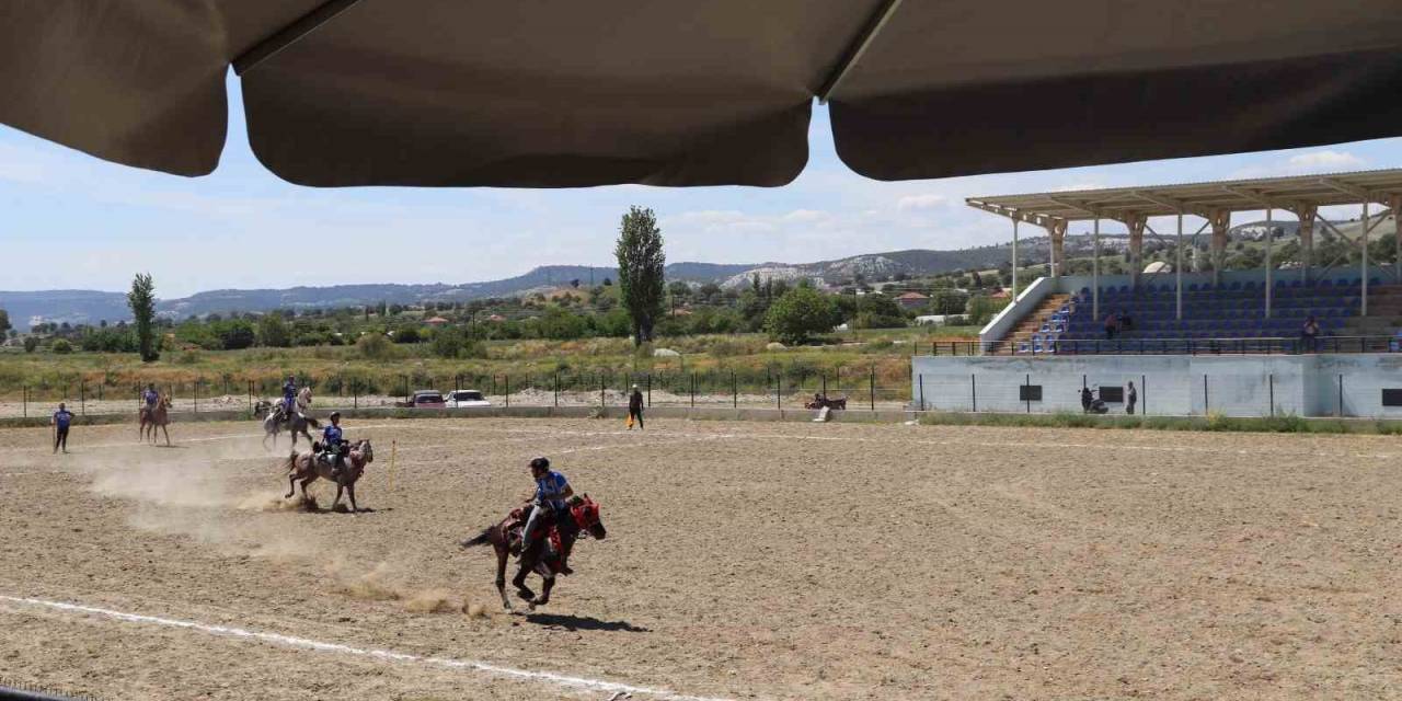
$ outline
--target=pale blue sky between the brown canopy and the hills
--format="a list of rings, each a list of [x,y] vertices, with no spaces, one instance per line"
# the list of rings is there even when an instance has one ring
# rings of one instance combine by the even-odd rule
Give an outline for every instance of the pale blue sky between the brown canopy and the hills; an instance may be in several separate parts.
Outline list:
[[[775,189],[314,189],[290,185],[258,164],[248,149],[238,81],[230,80],[229,88],[229,144],[219,168],[205,178],[114,165],[0,126],[0,289],[121,290],[133,272],[147,271],[161,297],[179,297],[220,287],[460,283],[547,264],[608,265],[628,205],[658,212],[670,261],[808,262],[1011,237],[1007,222],[965,206],[966,196],[1402,163],[1402,139],[1387,139],[876,182],[837,158],[827,112],[819,107],[808,168]]]

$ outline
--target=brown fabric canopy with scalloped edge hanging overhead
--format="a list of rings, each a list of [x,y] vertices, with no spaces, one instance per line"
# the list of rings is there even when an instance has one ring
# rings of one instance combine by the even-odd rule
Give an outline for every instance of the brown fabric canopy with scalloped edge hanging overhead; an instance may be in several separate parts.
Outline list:
[[[306,185],[781,185],[813,95],[886,179],[1402,133],[1395,0],[8,0],[0,122]]]

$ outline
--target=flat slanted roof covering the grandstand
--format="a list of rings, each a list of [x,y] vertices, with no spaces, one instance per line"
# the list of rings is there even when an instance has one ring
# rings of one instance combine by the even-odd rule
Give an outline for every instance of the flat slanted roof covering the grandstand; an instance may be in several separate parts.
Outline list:
[[[1290,178],[1258,178],[1182,185],[1082,189],[967,198],[969,206],[1042,224],[1044,219],[1078,222],[1134,216],[1209,216],[1214,210],[1251,212],[1274,207],[1392,205],[1402,198],[1402,168]]]

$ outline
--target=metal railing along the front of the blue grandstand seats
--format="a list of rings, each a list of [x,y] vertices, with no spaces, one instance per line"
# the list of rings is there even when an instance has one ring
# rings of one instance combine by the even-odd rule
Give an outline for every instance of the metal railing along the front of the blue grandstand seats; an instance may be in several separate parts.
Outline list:
[[[1025,348],[1023,348],[1025,346]],[[1307,338],[1115,338],[1057,341],[937,341],[932,356],[972,355],[1301,355],[1301,353],[1396,353],[1399,336]]]

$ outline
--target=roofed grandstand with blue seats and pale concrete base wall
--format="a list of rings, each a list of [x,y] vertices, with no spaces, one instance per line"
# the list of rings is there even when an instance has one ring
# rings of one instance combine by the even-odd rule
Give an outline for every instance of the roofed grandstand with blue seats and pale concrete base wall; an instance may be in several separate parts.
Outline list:
[[[967,203],[1014,224],[1015,300],[981,329],[979,342],[935,343],[928,356],[917,353],[917,408],[1078,411],[1082,387],[1113,398],[1133,380],[1140,391],[1152,387],[1161,414],[1402,418],[1402,365],[1392,355],[1402,350],[1402,236],[1394,215],[1402,207],[1402,170]],[[1322,216],[1340,206],[1361,209],[1361,216]],[[1225,269],[1232,215],[1242,212],[1266,215],[1266,233],[1252,243],[1265,248],[1263,265]],[[1272,226],[1280,212],[1298,220],[1297,245],[1284,261],[1274,251]],[[1200,226],[1185,231],[1185,219]],[[1129,230],[1127,273],[1101,273],[1103,222]],[[1063,241],[1071,223],[1091,227],[1091,275],[1064,273]],[[1021,224],[1044,229],[1052,243],[1049,275],[1025,287],[1018,283]],[[1387,254],[1392,259],[1377,265],[1368,244],[1377,247],[1388,233],[1395,240]],[[1171,255],[1145,269],[1147,236]],[[1197,245],[1200,236],[1209,237],[1206,247]],[[1316,250],[1319,240],[1329,245]],[[1189,248],[1195,262],[1206,265],[1189,271]],[[1196,255],[1200,248],[1206,257]],[[1319,332],[1307,338],[1309,317]],[[1173,359],[1180,356],[1186,359]]]

